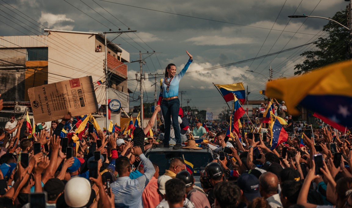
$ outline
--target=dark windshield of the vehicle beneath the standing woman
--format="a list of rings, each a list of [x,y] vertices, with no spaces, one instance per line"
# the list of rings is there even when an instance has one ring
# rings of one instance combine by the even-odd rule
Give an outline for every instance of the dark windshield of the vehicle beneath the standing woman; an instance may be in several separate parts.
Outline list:
[[[177,152],[177,151],[151,151],[146,155],[151,162],[159,166],[159,175],[163,175],[170,167],[170,161],[174,157],[181,157],[193,164],[193,175],[200,176],[200,171],[213,161],[210,152]]]

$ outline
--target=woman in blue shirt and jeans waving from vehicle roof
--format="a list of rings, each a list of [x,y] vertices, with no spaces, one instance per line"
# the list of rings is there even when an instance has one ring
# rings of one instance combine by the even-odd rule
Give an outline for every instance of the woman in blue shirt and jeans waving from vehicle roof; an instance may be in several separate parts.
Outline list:
[[[161,111],[164,117],[165,135],[162,144],[158,144],[157,147],[169,147],[170,129],[171,129],[171,118],[172,126],[175,131],[176,145],[173,149],[182,148],[181,145],[181,132],[180,125],[178,125],[178,111],[180,109],[180,100],[178,99],[178,85],[180,80],[186,73],[188,66],[192,63],[192,55],[186,51],[189,56],[189,60],[183,67],[180,73],[176,76],[176,65],[169,64],[165,69],[165,78],[160,80],[160,95],[158,100],[158,106],[161,107]]]

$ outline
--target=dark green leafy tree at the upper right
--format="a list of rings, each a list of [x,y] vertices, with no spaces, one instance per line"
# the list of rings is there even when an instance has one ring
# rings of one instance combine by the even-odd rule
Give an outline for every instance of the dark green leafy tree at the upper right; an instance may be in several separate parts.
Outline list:
[[[335,13],[330,18],[348,27],[347,9]],[[324,25],[323,31],[328,32],[328,37],[320,37],[319,42],[315,43],[316,48],[312,51],[305,51],[300,56],[306,58],[302,64],[295,65],[295,75],[319,69],[331,63],[347,60],[351,56],[351,35],[350,31],[329,21]]]

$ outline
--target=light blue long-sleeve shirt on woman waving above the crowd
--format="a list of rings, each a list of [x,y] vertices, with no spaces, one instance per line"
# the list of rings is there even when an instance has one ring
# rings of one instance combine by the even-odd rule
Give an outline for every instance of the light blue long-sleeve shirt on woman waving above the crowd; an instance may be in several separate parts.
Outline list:
[[[165,80],[163,79],[161,86],[160,86],[163,93],[160,92],[159,97],[168,98],[168,97],[178,96],[178,86],[180,84],[180,80],[183,77],[184,73],[186,73],[186,71],[187,71],[189,65],[192,63],[192,61],[193,60],[188,59],[186,65],[184,65],[181,72],[178,73],[177,76],[174,77],[174,79],[172,79],[172,81],[170,83],[170,87],[169,87],[169,92],[166,90]],[[170,78],[167,78],[167,79],[170,80]]]

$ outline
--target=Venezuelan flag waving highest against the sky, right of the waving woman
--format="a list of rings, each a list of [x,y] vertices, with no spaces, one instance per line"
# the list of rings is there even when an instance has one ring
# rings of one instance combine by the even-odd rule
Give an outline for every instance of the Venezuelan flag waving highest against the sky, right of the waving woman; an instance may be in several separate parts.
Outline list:
[[[243,83],[234,83],[228,85],[218,85],[214,84],[221,92],[221,95],[224,97],[226,102],[233,100],[233,94],[244,103],[246,101],[246,92],[244,90]]]

